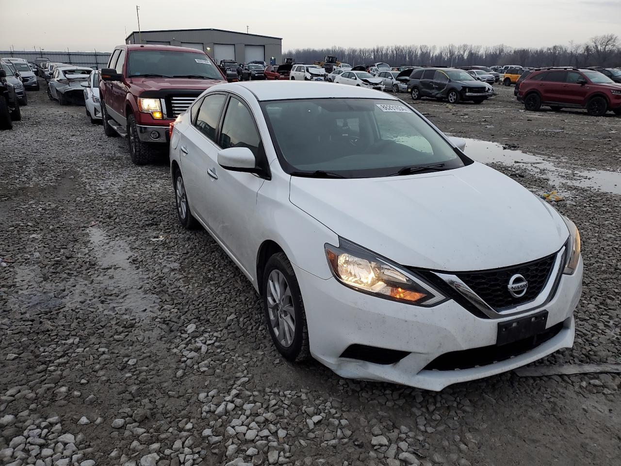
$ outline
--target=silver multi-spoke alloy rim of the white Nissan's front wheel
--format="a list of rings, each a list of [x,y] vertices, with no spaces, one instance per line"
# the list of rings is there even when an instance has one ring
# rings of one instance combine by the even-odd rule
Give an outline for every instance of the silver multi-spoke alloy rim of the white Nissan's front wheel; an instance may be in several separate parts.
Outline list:
[[[272,270],[267,286],[268,316],[276,340],[288,348],[296,334],[296,314],[291,288],[279,270]]]

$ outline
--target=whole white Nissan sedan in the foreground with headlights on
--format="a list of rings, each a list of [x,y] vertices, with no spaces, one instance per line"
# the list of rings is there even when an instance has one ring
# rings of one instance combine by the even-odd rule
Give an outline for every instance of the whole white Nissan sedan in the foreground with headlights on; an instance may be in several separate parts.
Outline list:
[[[214,86],[171,129],[179,221],[255,286],[284,358],[441,390],[571,347],[582,290],[573,222],[458,146],[371,89]]]

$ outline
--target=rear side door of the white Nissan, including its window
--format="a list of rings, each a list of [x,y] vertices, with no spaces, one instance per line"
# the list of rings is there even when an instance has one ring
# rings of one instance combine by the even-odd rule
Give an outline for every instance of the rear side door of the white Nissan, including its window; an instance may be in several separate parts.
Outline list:
[[[216,142],[217,129],[226,98],[224,93],[214,93],[207,94],[200,103],[197,102],[197,111],[194,112],[191,124],[181,133],[179,140],[181,171],[189,204],[194,214],[211,230],[210,214],[214,204],[210,183],[213,180],[207,170],[213,166],[212,162],[220,150]]]

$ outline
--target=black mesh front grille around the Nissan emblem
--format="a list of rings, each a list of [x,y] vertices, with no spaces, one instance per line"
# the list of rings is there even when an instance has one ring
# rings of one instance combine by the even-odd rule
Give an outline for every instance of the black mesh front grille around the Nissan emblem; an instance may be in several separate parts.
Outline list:
[[[482,270],[481,272],[462,272],[456,275],[466,283],[489,306],[498,310],[528,303],[542,292],[555,262],[556,254],[512,267]],[[519,273],[528,281],[524,296],[514,298],[507,285],[510,278]]]

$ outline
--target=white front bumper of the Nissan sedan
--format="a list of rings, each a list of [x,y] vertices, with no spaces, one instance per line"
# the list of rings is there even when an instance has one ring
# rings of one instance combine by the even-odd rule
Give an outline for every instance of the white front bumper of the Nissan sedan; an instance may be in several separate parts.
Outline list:
[[[555,296],[545,306],[527,313],[548,311],[546,329],[562,322],[555,336],[510,359],[461,370],[425,367],[449,352],[495,345],[497,324],[513,318],[479,318],[453,300],[433,308],[388,301],[351,290],[334,278],[323,280],[294,268],[306,309],[311,354],[342,377],[439,391],[453,383],[512,370],[573,345],[573,311],[582,292],[582,260],[573,275],[561,277]],[[389,364],[341,357],[354,344],[408,354]]]

